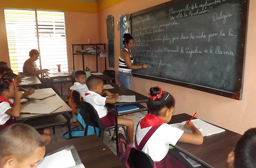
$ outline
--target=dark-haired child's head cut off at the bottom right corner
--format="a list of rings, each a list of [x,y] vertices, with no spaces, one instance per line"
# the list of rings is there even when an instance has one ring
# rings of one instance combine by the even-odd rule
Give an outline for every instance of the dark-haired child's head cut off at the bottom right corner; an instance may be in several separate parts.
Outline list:
[[[247,130],[228,154],[228,168],[256,168],[256,128]]]

